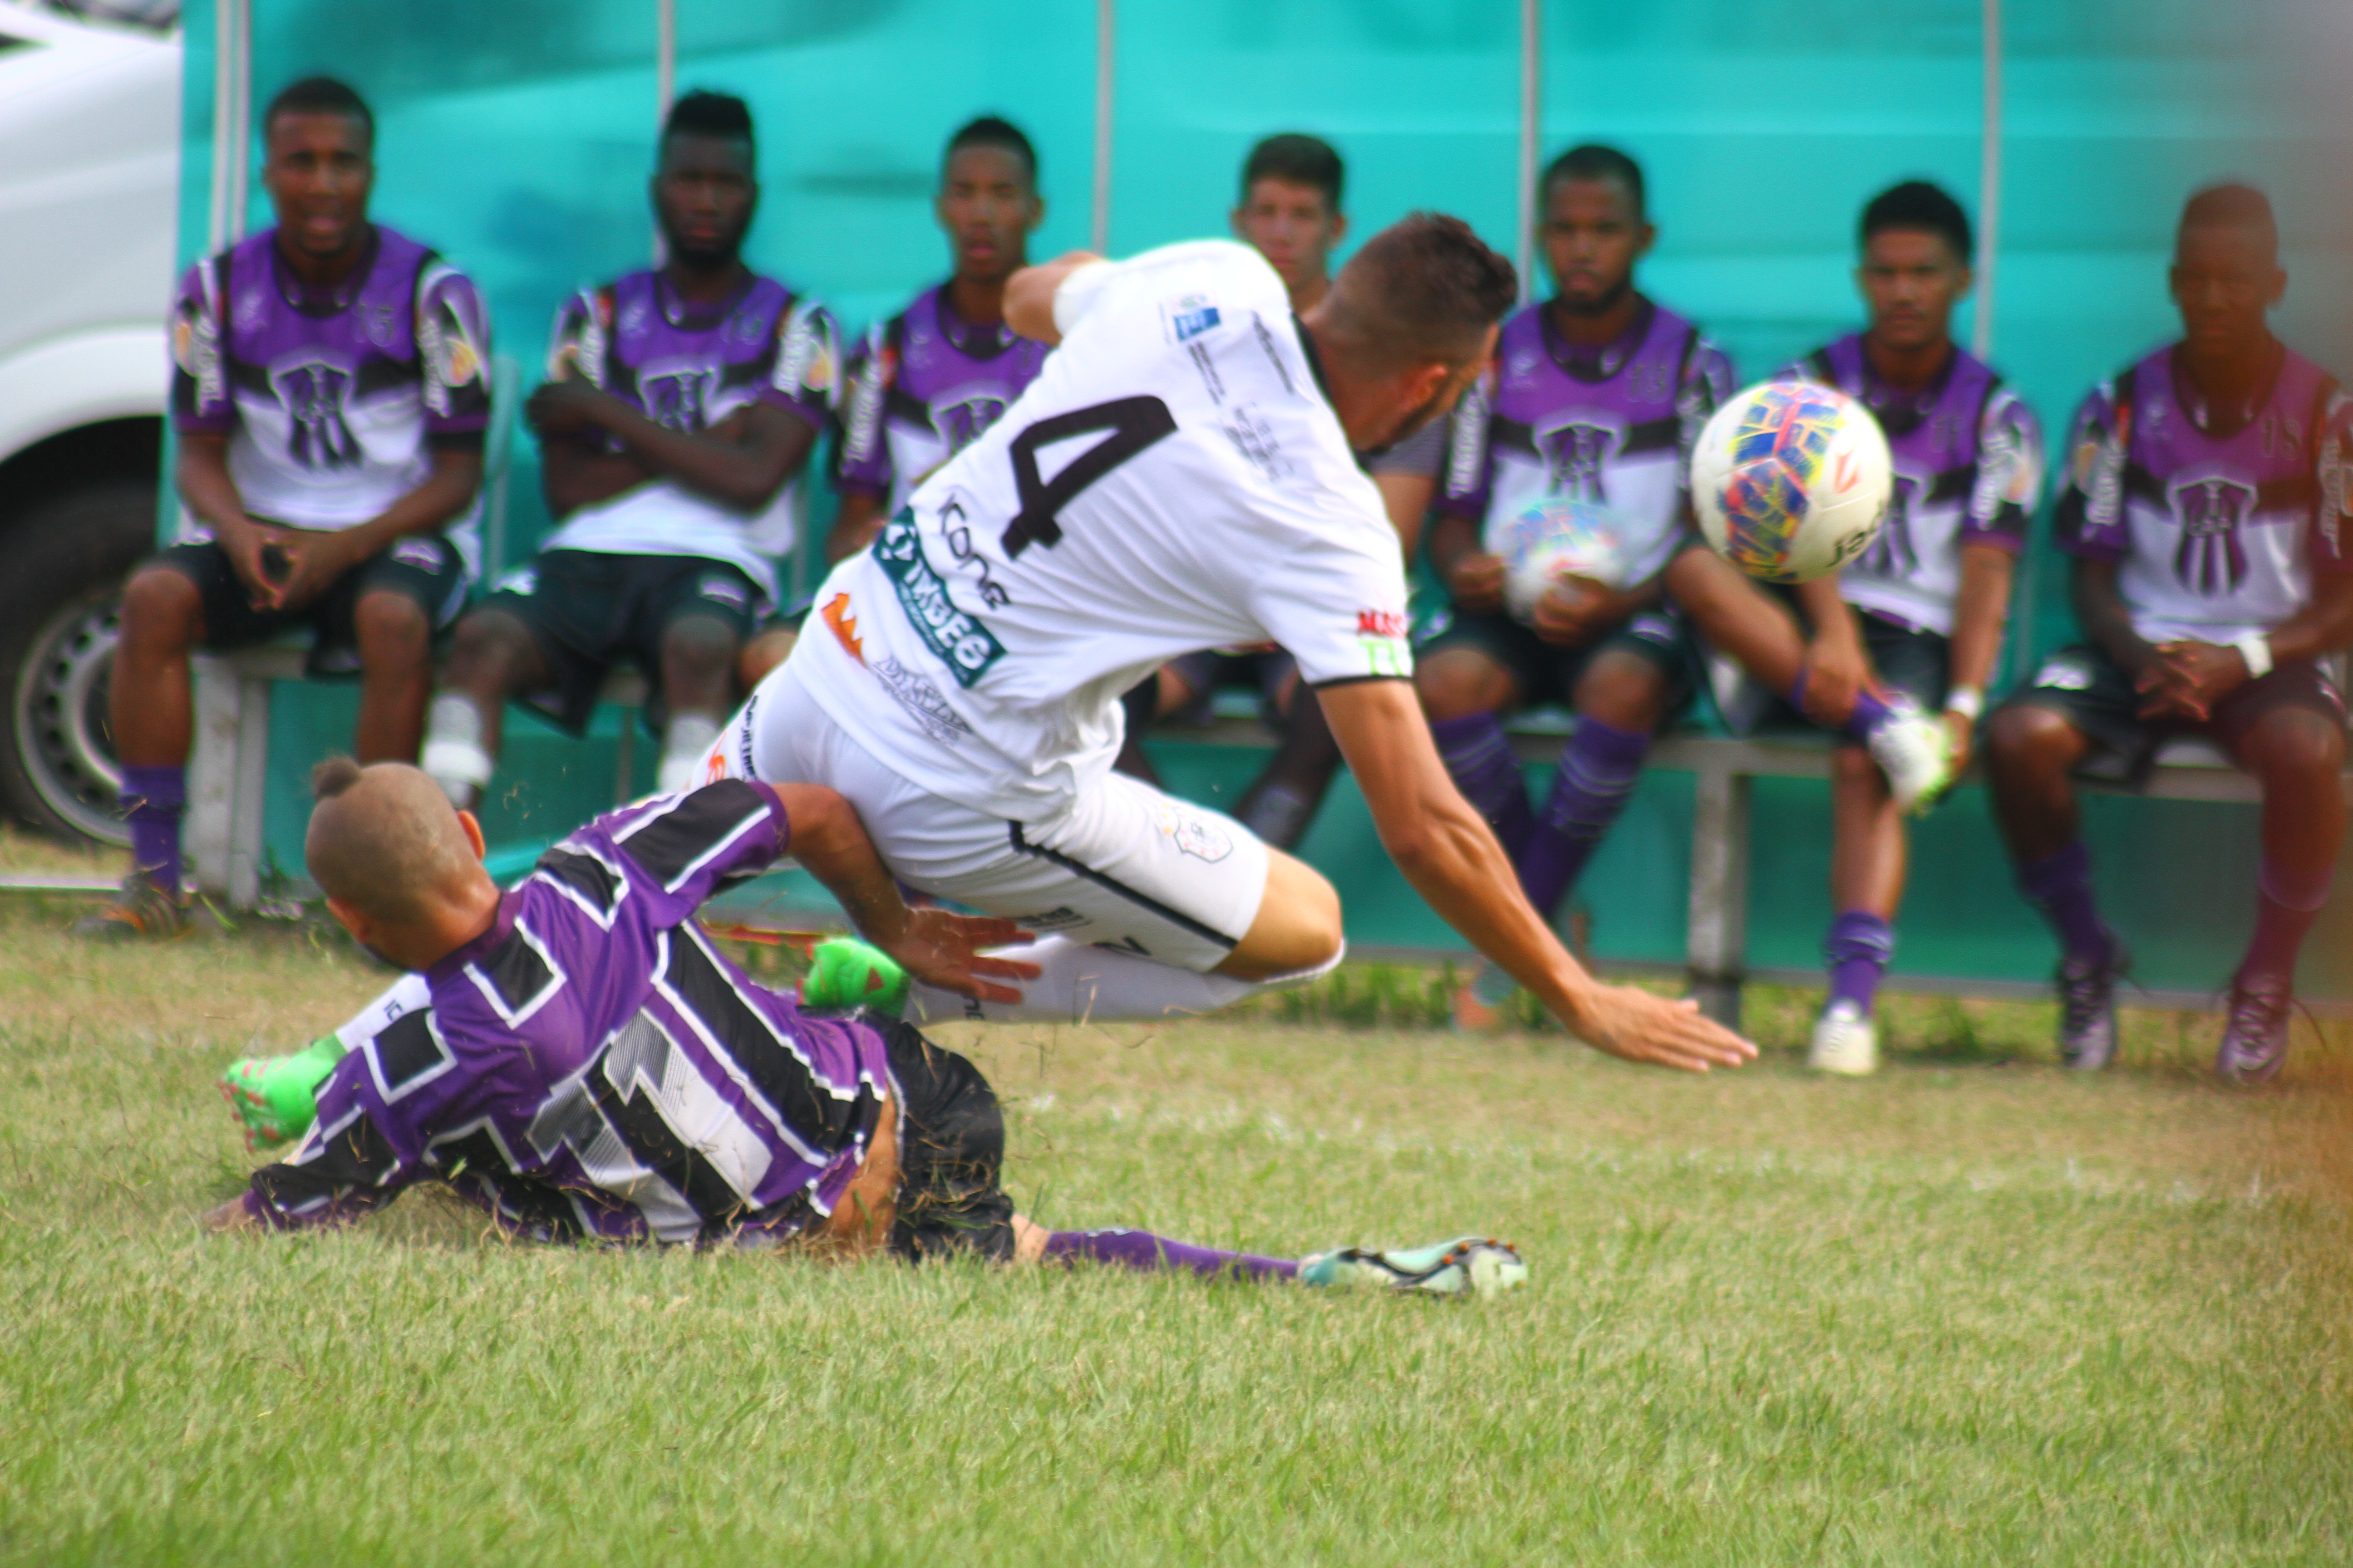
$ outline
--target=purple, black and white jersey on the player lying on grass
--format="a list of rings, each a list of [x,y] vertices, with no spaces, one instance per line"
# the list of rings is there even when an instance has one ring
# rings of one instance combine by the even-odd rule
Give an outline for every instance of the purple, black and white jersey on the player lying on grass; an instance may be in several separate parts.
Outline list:
[[[746,780],[574,832],[344,1032],[318,1121],[247,1211],[325,1225],[445,1180],[529,1237],[753,1246],[833,1213],[889,1086],[882,1037],[802,1016],[694,924],[788,842]]]

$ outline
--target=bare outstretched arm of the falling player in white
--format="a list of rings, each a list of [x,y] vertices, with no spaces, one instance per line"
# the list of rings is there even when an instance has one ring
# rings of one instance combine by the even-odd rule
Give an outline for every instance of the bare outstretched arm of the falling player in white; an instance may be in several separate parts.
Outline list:
[[[1569,957],[1520,896],[1494,832],[1447,778],[1409,682],[1348,682],[1318,696],[1405,879],[1584,1041],[1685,1072],[1739,1067],[1755,1056],[1746,1039],[1701,1018],[1694,1001],[1602,985]]]

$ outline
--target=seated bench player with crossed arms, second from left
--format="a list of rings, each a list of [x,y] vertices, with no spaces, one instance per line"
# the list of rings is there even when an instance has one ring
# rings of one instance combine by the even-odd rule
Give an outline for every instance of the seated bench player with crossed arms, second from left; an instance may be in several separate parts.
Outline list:
[[[736,654],[776,602],[798,475],[831,421],[833,317],[744,266],[760,205],[751,110],[689,92],[652,179],[666,261],[584,289],[525,409],[558,527],[456,628],[424,766],[471,806],[506,701],[572,733],[616,658],[645,670],[661,790],[682,788],[736,703]]]

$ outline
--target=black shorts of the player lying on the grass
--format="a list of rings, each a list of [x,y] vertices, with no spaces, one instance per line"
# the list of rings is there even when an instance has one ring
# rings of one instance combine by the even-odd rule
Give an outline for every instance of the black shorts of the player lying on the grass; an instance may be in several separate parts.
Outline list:
[[[856,1013],[889,1053],[899,1103],[899,1218],[889,1251],[922,1262],[1014,1255],[1014,1201],[1005,1197],[1005,1110],[981,1070],[934,1046],[913,1025]]]

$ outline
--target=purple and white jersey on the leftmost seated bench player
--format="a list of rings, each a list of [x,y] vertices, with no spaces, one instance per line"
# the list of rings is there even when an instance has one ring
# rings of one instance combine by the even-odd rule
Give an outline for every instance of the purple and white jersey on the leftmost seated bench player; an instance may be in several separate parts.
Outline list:
[[[489,425],[489,320],[464,273],[381,223],[351,277],[311,289],[278,230],[188,268],[172,306],[172,425],[228,437],[254,517],[348,529],[426,482],[433,440]],[[445,529],[468,567],[473,517]],[[193,520],[181,538],[209,538]]]

